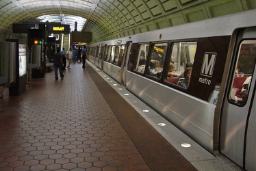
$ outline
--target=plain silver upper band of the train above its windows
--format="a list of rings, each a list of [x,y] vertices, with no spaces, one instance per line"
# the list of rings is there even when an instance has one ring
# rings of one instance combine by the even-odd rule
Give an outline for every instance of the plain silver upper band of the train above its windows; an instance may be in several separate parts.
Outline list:
[[[107,40],[104,42],[97,42],[91,46],[99,44],[125,44],[127,41],[132,42],[151,42],[163,40],[179,40],[186,38],[203,38],[212,36],[231,36],[235,29],[241,27],[255,26],[256,10],[240,12],[236,14],[229,14],[227,16],[220,16],[210,18],[194,23],[187,23],[168,27],[165,29],[157,29],[155,31],[137,34],[133,36],[126,36],[114,40]]]

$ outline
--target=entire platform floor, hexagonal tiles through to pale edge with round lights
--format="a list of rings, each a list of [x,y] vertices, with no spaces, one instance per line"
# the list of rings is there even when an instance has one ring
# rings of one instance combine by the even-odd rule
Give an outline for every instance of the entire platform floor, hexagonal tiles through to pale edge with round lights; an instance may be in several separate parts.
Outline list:
[[[20,96],[5,88],[0,170],[235,170],[92,64],[64,75],[50,70]]]

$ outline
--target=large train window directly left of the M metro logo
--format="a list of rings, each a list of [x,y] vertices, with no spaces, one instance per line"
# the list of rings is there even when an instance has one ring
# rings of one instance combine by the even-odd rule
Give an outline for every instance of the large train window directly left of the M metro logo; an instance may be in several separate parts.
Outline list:
[[[168,83],[188,88],[195,53],[196,42],[173,43],[164,79]]]

